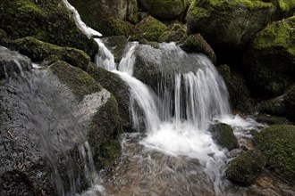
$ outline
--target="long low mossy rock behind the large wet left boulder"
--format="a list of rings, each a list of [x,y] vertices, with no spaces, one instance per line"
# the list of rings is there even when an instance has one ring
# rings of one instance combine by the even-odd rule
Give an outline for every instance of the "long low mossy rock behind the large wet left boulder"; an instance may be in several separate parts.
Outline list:
[[[72,47],[60,47],[42,42],[34,37],[24,37],[6,43],[10,48],[19,51],[30,57],[32,61],[43,61],[47,56],[55,55],[58,59],[71,64],[72,66],[85,68],[89,61],[89,55]]]

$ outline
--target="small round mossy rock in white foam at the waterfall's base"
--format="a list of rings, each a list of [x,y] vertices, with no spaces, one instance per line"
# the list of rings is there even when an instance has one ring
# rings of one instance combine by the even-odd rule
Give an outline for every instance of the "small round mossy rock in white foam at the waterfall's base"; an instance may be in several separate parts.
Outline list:
[[[222,148],[228,151],[239,148],[239,143],[235,135],[233,135],[232,127],[223,123],[215,124],[209,127],[212,139]]]

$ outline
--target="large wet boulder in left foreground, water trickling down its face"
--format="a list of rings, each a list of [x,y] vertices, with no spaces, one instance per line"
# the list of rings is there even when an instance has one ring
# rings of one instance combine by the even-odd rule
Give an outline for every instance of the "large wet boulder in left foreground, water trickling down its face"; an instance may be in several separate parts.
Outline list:
[[[64,61],[55,61],[50,71],[30,70],[28,58],[4,53],[5,66],[18,69],[7,72],[12,74],[0,86],[0,194],[85,190],[91,178],[84,168],[94,171],[89,151],[97,168],[120,153],[121,118],[114,97]]]

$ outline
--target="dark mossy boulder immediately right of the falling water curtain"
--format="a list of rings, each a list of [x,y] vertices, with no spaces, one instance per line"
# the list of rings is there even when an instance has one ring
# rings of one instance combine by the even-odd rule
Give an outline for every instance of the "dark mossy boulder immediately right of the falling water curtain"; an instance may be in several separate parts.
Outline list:
[[[227,86],[232,109],[241,112],[251,111],[252,101],[245,78],[226,64],[218,66],[217,69]]]

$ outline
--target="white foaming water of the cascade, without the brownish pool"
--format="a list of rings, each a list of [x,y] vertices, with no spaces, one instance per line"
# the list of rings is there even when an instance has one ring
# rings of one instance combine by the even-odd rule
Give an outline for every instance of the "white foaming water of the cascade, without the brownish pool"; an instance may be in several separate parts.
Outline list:
[[[66,0],[64,0],[67,3]],[[67,3],[68,4],[68,3]],[[77,11],[70,5],[77,25],[86,35],[101,36],[93,29],[89,29],[79,17]],[[69,9],[70,9],[69,8]],[[200,67],[195,72],[175,73],[174,83],[170,86],[160,86],[164,90],[156,95],[137,78],[133,78],[135,55],[138,44],[131,45],[124,55],[118,69],[114,63],[114,55],[109,52],[100,39],[96,39],[99,47],[96,63],[104,69],[118,74],[131,88],[131,102],[137,102],[144,112],[147,137],[141,140],[141,144],[151,151],[161,151],[168,156],[187,156],[190,159],[198,159],[207,174],[207,180],[214,184],[215,194],[223,192],[221,180],[221,168],[226,157],[212,140],[206,129],[213,120],[234,124],[238,122],[243,126],[244,122],[232,118],[228,102],[226,86],[219,77],[214,65],[203,55],[194,54],[190,62],[198,63]],[[181,64],[186,61],[182,57],[187,55],[174,44],[162,45],[167,53],[173,53],[172,66],[177,66],[177,55]],[[166,53],[166,54],[167,54]],[[171,56],[161,56],[154,53],[152,61],[168,61]],[[194,66],[194,64],[190,64]],[[184,86],[184,87],[183,87]],[[171,91],[173,89],[173,92]],[[183,94],[184,92],[184,94]],[[172,95],[174,99],[172,99]],[[185,109],[183,109],[185,105]],[[131,110],[135,112],[134,110]],[[136,113],[132,113],[133,124],[139,127]],[[229,122],[231,121],[231,122]],[[174,171],[173,171],[174,172]],[[178,174],[176,174],[178,175]],[[176,184],[175,184],[176,185]],[[86,193],[87,194],[87,193]]]

